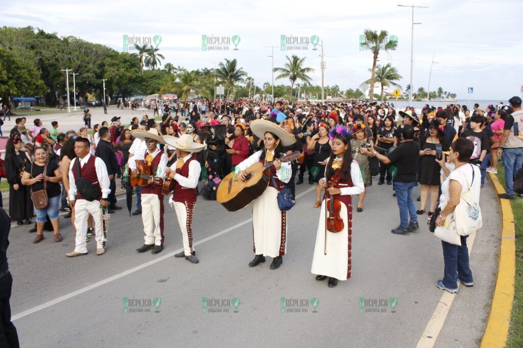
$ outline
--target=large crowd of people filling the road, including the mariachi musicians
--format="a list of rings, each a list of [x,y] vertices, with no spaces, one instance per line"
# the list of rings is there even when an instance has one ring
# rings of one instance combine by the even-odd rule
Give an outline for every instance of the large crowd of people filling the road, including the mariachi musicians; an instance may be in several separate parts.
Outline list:
[[[155,101],[152,107],[161,110],[161,119],[144,114],[130,124],[121,124],[119,117],[112,117],[92,129],[87,110],[85,126],[67,132],[60,131],[56,121],[48,128],[39,119],[27,129],[26,118],[17,118],[5,156],[11,219],[29,225],[36,214],[36,225],[30,230],[36,232],[33,242],[44,239],[44,229],[53,230],[54,240],[60,242],[61,206],[76,230],[75,249],[67,256],[85,255],[86,240],[92,237],[97,242],[96,253],[101,255],[107,239],[100,223],[100,206],[110,214],[121,209],[115,195],[119,178],[121,189],[134,190],[137,195],[132,214],[142,215],[144,226],[144,244],[137,250],[159,253],[165,241],[163,182],[172,180],[170,191],[174,194],[169,204],[176,212],[184,246],[177,257],[198,263],[191,230],[197,196],[215,200],[221,180],[229,173],[247,179],[249,166],[269,163],[273,164],[268,171],[272,181],[253,204],[255,259],[249,266],[265,262],[267,256],[273,258],[271,269],[282,264],[287,220],[277,197],[289,189],[294,203],[295,185],[303,184],[307,173],[306,182],[316,190],[311,208],[321,207],[325,212],[329,196],[342,202],[343,233],[328,234],[320,219],[312,267],[317,280],[328,276],[329,286],[334,287],[337,280],[350,277],[351,195],[358,195],[359,213],[374,180],[378,185],[390,185],[400,215],[400,224],[391,232],[409,235],[419,230],[421,216],[430,220],[438,208],[442,211],[442,197],[449,200],[452,196],[448,181],[454,180],[455,168],[463,163],[475,165],[462,171],[469,171],[465,177],[477,171],[472,180],[479,197],[486,172],[496,172],[502,160],[506,193],[500,197],[514,199],[513,182],[523,161],[523,134],[514,131],[515,124],[523,130],[519,97],[510,98],[508,106],[474,105],[472,110],[460,105],[426,105],[419,115],[414,108],[396,111],[388,103],[359,100],[282,100],[274,104]],[[293,153],[300,154],[297,160],[279,160]],[[142,185],[132,185],[131,178],[142,178],[142,164],[149,166],[151,173]],[[413,188],[418,184],[416,199]],[[38,204],[42,193],[47,204]],[[445,212],[438,218],[449,214]],[[466,249],[466,240],[460,248],[444,246],[446,265],[447,256],[451,260],[449,255]],[[327,254],[327,249],[332,252]],[[348,264],[333,266],[345,257]],[[472,283],[471,274],[465,278],[464,282]],[[446,277],[441,288],[453,291],[457,288],[454,283],[453,276]]]

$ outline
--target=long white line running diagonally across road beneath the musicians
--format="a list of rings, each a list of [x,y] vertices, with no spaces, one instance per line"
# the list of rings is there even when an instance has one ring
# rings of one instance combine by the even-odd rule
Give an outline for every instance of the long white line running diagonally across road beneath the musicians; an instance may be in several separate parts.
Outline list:
[[[302,193],[298,194],[298,195],[296,196],[296,198],[298,199],[298,198],[300,198],[301,196],[304,196],[305,194],[307,194],[307,193],[309,193],[309,192],[311,192],[312,190],[315,190],[315,189],[316,189],[315,186],[313,186],[313,187],[311,187],[311,188],[309,188],[309,189],[303,191]],[[199,241],[197,241],[196,243],[194,243],[194,245],[197,246],[197,245],[200,245],[200,244],[202,244],[202,243],[204,243],[204,242],[207,242],[207,241],[209,241],[209,240],[212,240],[212,239],[214,239],[214,238],[217,238],[217,237],[219,237],[219,236],[221,236],[221,235],[223,235],[223,234],[226,234],[226,233],[228,233],[228,232],[230,232],[230,231],[232,231],[232,230],[234,230],[234,229],[236,229],[236,228],[238,228],[238,227],[241,227],[241,226],[243,226],[243,225],[245,225],[245,224],[248,224],[248,223],[251,222],[251,221],[253,221],[253,218],[252,218],[252,217],[251,217],[251,218],[248,218],[248,219],[246,219],[246,220],[244,220],[244,221],[242,221],[241,223],[238,223],[238,224],[233,225],[233,226],[231,226],[231,227],[225,228],[225,229],[223,229],[223,230],[221,230],[221,231],[219,231],[219,232],[213,234],[212,236],[209,236],[209,237],[207,237],[207,238],[203,238],[202,240],[199,240]],[[104,279],[104,280],[98,281],[98,282],[96,282],[96,283],[93,283],[93,284],[91,284],[91,285],[87,285],[87,286],[85,286],[85,287],[83,287],[83,288],[81,288],[81,289],[78,289],[78,290],[76,290],[76,291],[73,291],[73,292],[71,292],[71,293],[69,293],[69,294],[65,294],[65,295],[63,295],[63,296],[60,296],[60,297],[55,298],[55,299],[53,299],[53,300],[50,300],[50,301],[48,301],[48,302],[46,302],[46,303],[43,303],[43,304],[41,304],[41,305],[38,305],[38,306],[32,307],[32,308],[30,308],[30,309],[24,310],[24,311],[22,311],[22,312],[20,312],[20,313],[18,313],[18,314],[15,314],[14,316],[12,316],[12,317],[11,317],[11,320],[12,320],[12,321],[15,321],[15,320],[17,320],[17,319],[24,318],[24,317],[26,317],[26,316],[28,316],[28,315],[31,315],[31,314],[33,314],[33,313],[38,312],[39,310],[46,309],[46,308],[51,307],[51,306],[53,306],[53,305],[59,304],[59,303],[65,301],[65,300],[67,300],[67,299],[70,299],[70,298],[75,297],[75,296],[77,296],[77,295],[83,294],[83,293],[85,293],[85,292],[87,292],[87,291],[89,291],[89,290],[92,290],[92,289],[97,288],[97,287],[99,287],[99,286],[105,285],[105,284],[110,283],[110,282],[112,282],[112,281],[118,280],[118,279],[120,279],[121,277],[124,277],[124,276],[126,276],[126,275],[129,275],[129,274],[131,274],[131,273],[134,273],[134,272],[140,271],[140,270],[142,270],[142,269],[144,269],[144,268],[146,268],[146,267],[149,267],[149,266],[151,266],[151,265],[153,265],[153,264],[155,264],[155,263],[158,263],[158,262],[161,262],[161,261],[163,261],[163,260],[165,260],[165,259],[168,259],[168,258],[170,258],[170,257],[173,257],[174,254],[176,254],[176,253],[178,253],[178,252],[180,252],[180,251],[182,251],[182,250],[184,250],[184,249],[183,249],[183,248],[180,248],[180,249],[178,249],[178,250],[175,250],[175,251],[169,252],[168,254],[165,254],[164,256],[158,257],[158,258],[156,258],[156,259],[154,259],[154,260],[151,260],[151,261],[147,261],[147,262],[145,262],[145,263],[142,263],[141,265],[138,265],[138,266],[132,267],[132,268],[128,269],[127,271],[120,272],[120,273],[115,274],[115,275],[113,275],[113,276],[110,276],[110,277],[108,277],[108,278],[106,278],[106,279]]]

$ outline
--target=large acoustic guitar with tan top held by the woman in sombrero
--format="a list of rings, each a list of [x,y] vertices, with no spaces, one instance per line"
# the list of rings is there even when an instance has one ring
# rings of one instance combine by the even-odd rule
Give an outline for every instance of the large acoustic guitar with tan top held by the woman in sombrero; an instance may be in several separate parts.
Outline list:
[[[300,157],[300,152],[295,151],[277,159],[281,162],[289,162],[298,157]],[[230,212],[236,212],[246,207],[264,193],[270,179],[267,169],[273,165],[274,161],[268,162],[265,166],[260,162],[256,162],[251,167],[245,169],[245,181],[237,173],[229,173],[218,186],[216,200]]]

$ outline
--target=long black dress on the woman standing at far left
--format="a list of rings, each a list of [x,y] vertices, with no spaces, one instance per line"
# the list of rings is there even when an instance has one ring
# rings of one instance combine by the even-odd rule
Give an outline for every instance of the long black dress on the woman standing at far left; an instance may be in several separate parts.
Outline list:
[[[7,155],[5,158],[9,183],[9,215],[12,221],[24,221],[35,216],[30,195],[31,188],[22,185],[21,182],[21,174],[28,163],[30,163],[29,159],[23,152],[18,155]],[[13,188],[14,184],[18,184],[18,191]]]

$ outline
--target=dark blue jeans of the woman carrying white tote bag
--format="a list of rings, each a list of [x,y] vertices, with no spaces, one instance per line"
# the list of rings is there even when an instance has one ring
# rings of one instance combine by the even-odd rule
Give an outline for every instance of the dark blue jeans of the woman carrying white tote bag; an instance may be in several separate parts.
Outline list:
[[[458,288],[458,277],[465,283],[472,283],[472,271],[469,265],[469,248],[467,237],[461,237],[461,246],[441,241],[443,259],[445,261],[445,275],[443,285],[449,289]]]

